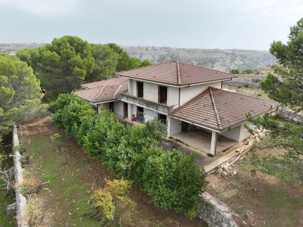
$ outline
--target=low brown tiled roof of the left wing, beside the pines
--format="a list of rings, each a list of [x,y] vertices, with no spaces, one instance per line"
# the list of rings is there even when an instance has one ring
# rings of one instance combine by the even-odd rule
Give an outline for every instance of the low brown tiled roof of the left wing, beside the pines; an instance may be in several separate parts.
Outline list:
[[[122,92],[128,92],[128,79],[118,77],[93,83],[86,83],[81,86],[89,88],[76,91],[75,93],[89,102],[97,103],[121,98]]]

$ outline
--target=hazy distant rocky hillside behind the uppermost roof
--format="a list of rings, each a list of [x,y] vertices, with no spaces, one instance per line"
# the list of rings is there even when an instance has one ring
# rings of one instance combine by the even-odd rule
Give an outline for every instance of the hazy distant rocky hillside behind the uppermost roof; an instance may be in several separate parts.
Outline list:
[[[123,46],[122,46],[123,47]],[[129,56],[148,59],[152,64],[177,59],[177,49],[156,47],[124,47]],[[267,50],[178,49],[178,60],[228,72],[230,69],[259,69],[276,61]]]

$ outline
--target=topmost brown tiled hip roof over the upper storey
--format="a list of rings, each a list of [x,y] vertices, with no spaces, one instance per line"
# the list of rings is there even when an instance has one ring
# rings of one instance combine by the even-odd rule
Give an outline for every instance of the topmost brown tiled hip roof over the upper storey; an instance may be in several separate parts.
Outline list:
[[[138,69],[130,69],[116,73],[116,75],[174,85],[186,85],[238,77],[231,73],[225,73],[215,69],[208,69],[178,61],[145,66]]]

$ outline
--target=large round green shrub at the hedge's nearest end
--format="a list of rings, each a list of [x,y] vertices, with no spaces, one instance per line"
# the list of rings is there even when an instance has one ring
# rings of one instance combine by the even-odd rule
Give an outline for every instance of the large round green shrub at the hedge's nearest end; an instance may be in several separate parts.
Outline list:
[[[208,184],[206,176],[193,153],[187,156],[173,149],[159,157],[148,158],[142,188],[160,208],[187,214],[197,210],[197,199]]]

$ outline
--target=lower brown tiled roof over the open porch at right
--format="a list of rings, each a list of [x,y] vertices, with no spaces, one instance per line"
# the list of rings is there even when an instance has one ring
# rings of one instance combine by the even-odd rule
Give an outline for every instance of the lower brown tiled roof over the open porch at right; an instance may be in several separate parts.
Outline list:
[[[279,103],[208,87],[169,115],[218,130],[229,128],[280,106]]]

